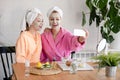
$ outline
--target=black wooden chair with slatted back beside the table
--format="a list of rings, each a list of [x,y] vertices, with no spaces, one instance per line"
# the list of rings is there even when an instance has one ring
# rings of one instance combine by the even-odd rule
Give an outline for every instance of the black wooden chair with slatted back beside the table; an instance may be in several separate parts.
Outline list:
[[[12,64],[14,62],[13,56],[15,56],[15,46],[0,47],[0,56],[5,76],[3,80],[11,80],[13,74]]]

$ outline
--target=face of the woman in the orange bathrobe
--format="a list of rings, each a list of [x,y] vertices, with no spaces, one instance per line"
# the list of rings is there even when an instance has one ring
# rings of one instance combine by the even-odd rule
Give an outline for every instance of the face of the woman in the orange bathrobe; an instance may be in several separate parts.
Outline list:
[[[38,31],[42,28],[42,26],[43,26],[43,16],[38,14],[36,19],[32,23],[32,27]]]

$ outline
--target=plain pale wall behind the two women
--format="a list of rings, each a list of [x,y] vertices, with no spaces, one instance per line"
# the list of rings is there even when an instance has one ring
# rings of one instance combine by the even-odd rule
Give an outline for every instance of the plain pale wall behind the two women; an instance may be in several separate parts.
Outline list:
[[[62,8],[63,27],[71,32],[74,28],[81,28],[81,12],[89,13],[85,0],[0,0],[0,45],[15,45],[20,33],[21,20],[28,8],[40,8],[45,19],[44,28],[48,26],[46,13],[52,6]],[[94,24],[91,27],[86,24],[85,27],[90,36],[84,50],[95,50],[99,35],[98,28],[95,28]]]

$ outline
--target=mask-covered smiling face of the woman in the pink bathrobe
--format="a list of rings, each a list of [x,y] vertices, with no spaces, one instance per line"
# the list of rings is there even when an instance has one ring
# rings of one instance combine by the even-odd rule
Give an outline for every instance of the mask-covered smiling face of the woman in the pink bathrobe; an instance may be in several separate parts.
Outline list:
[[[49,25],[52,29],[60,27],[61,23],[61,16],[58,12],[53,11],[51,15],[49,16]]]

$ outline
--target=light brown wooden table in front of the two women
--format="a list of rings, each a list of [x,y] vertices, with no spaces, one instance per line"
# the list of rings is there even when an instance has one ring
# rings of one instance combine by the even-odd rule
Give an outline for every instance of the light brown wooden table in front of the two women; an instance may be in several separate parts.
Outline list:
[[[93,70],[78,70],[76,73],[72,74],[69,70],[62,70],[58,74],[52,75],[35,75],[29,74],[25,76],[25,64],[24,63],[14,63],[12,65],[14,76],[16,80],[120,80],[120,68],[117,68],[116,76],[106,77],[105,68],[98,70],[96,64],[93,62],[88,63],[92,66]],[[35,66],[36,63],[31,63],[30,66]]]

